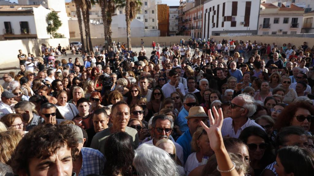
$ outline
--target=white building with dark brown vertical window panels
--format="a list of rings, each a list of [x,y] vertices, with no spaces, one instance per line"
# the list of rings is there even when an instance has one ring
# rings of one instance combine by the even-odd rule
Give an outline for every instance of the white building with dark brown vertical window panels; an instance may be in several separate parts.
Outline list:
[[[260,1],[207,0],[203,7],[203,34],[238,36],[257,34]]]

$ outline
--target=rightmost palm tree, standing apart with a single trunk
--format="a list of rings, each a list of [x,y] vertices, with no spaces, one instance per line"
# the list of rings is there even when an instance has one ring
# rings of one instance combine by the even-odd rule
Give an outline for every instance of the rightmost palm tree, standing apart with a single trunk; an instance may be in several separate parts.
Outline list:
[[[126,0],[125,2],[125,21],[127,22],[127,48],[131,47],[131,21],[141,13],[141,0]]]

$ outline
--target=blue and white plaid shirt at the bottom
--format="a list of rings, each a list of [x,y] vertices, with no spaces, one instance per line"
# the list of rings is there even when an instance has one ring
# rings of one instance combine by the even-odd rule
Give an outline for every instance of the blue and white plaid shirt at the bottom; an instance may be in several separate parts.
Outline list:
[[[104,155],[95,149],[83,147],[82,153],[82,168],[78,176],[85,176],[88,174],[102,174],[104,170],[106,158]]]

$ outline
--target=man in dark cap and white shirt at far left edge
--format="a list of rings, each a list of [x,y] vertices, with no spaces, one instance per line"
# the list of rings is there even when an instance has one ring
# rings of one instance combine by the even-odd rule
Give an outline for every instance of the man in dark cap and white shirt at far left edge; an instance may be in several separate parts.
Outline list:
[[[11,108],[12,101],[14,100],[15,95],[12,92],[4,91],[1,94],[0,102],[0,112],[1,116],[6,114],[14,113],[13,107]]]

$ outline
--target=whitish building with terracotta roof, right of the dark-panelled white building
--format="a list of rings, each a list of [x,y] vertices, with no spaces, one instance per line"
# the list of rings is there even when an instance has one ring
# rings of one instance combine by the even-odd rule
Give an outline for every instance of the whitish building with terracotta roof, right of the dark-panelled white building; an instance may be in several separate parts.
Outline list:
[[[288,2],[287,2],[288,3]],[[300,34],[304,9],[294,4],[261,3],[258,35]]]

